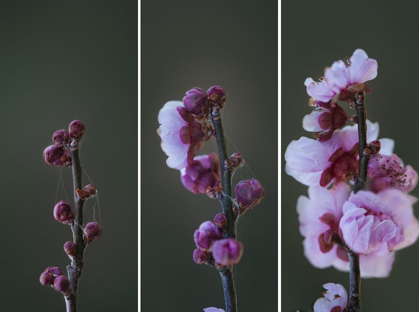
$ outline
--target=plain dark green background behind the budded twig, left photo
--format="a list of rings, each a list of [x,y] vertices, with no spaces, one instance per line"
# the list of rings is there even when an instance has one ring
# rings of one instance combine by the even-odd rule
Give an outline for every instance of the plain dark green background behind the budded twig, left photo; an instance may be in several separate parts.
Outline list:
[[[58,175],[42,152],[76,118],[103,228],[85,253],[78,311],[137,311],[137,1],[2,0],[0,27],[0,311],[65,311],[39,283],[46,266],[69,264],[71,240],[52,216]]]

